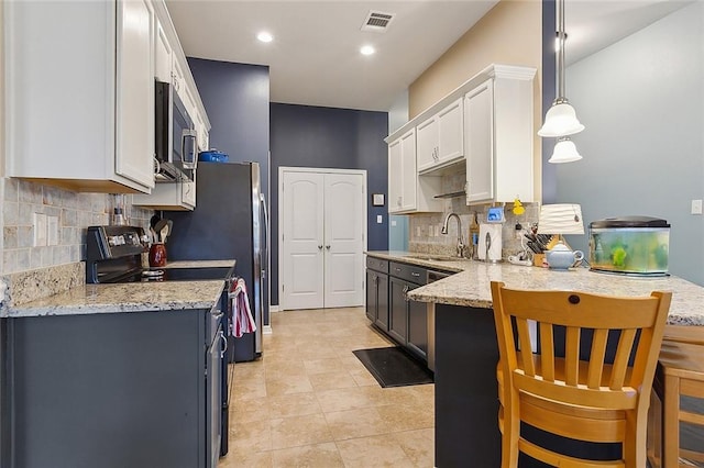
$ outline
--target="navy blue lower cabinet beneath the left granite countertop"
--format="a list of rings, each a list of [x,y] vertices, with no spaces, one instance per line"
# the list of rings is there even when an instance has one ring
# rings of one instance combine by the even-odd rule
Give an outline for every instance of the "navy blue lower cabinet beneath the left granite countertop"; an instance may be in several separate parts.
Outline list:
[[[210,467],[221,411],[210,320],[209,310],[9,319],[11,466]]]

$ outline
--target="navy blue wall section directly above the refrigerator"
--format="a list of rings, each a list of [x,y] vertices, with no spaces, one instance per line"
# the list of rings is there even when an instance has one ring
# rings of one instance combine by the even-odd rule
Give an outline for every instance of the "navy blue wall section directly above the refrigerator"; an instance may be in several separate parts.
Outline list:
[[[268,200],[268,67],[202,58],[188,65],[212,125],[210,147],[233,163],[258,163]]]

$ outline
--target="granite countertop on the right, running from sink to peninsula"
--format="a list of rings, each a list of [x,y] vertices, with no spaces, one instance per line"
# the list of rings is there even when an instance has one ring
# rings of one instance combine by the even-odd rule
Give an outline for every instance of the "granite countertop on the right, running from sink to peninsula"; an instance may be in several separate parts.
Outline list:
[[[433,261],[432,255],[407,252],[367,252],[370,256],[400,260],[448,271],[459,271],[440,281],[414,289],[408,297],[421,302],[491,309],[491,281],[529,290],[574,290],[612,296],[649,296],[651,291],[672,291],[668,323],[704,325],[704,287],[674,276],[637,278],[601,274],[586,268],[554,271],[548,268],[473,260]]]

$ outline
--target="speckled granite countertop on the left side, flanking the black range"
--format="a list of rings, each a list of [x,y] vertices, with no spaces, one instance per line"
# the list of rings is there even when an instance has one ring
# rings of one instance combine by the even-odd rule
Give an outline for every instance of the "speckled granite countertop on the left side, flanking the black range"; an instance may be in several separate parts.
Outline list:
[[[232,265],[234,260],[189,260],[173,261],[165,268]],[[220,297],[222,288],[223,280],[81,285],[44,299],[10,305],[0,312],[0,317],[210,309]]]

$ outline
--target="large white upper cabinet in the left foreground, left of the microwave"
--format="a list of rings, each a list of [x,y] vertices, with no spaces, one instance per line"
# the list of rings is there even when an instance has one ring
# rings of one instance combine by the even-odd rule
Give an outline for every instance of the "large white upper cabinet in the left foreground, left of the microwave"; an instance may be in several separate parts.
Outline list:
[[[4,4],[7,175],[72,190],[154,186],[150,1]]]

